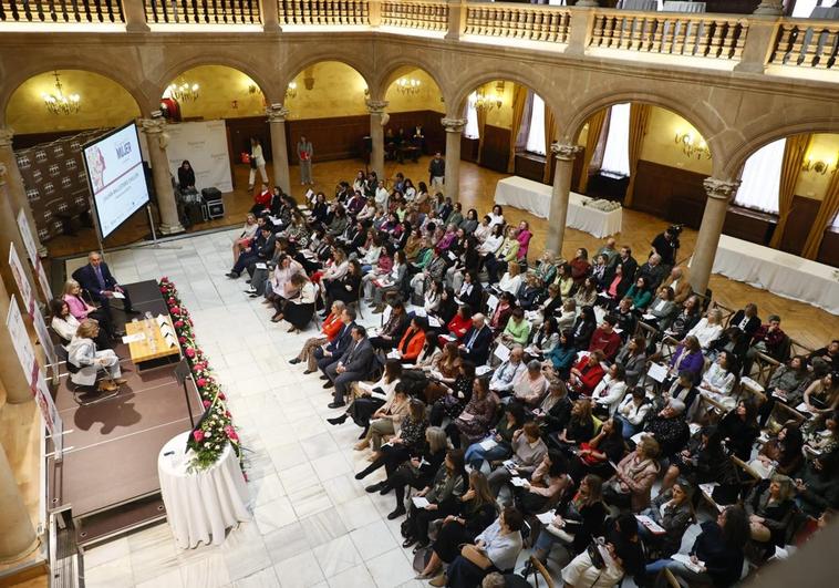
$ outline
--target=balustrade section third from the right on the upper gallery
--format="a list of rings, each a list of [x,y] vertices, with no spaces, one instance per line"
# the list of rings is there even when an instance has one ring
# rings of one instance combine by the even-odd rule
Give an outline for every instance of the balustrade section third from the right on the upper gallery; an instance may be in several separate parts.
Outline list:
[[[571,24],[569,10],[501,3],[469,3],[465,34],[507,37],[564,43]]]

